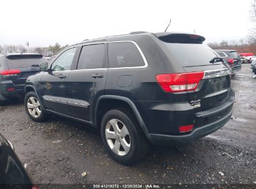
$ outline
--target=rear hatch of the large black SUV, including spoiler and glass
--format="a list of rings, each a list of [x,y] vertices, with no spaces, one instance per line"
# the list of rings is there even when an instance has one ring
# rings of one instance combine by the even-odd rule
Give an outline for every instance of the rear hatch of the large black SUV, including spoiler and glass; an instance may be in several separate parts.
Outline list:
[[[184,70],[178,76],[171,73],[174,79],[168,87],[178,90],[171,92],[170,100],[173,95],[183,96],[195,112],[215,108],[227,101],[230,93],[229,68],[214,50],[202,44],[204,37],[192,34],[163,34],[157,37],[175,58],[175,62],[170,60],[170,63],[181,65]]]

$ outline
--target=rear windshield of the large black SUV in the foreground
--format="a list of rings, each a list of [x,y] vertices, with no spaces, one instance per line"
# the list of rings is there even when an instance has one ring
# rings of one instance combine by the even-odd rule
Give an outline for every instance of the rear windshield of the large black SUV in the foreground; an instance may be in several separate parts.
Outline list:
[[[214,50],[204,44],[163,43],[183,67],[210,65],[212,58],[218,57]],[[214,65],[216,64],[222,64],[222,62],[214,63]]]

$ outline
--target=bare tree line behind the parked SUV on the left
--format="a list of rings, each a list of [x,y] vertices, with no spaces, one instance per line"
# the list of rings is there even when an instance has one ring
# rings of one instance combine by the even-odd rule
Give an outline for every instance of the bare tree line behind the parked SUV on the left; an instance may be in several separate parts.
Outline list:
[[[0,53],[40,53],[44,57],[52,57],[57,55],[62,49],[69,45],[61,46],[59,43],[50,45],[49,47],[31,47],[28,48],[24,45],[0,45]]]

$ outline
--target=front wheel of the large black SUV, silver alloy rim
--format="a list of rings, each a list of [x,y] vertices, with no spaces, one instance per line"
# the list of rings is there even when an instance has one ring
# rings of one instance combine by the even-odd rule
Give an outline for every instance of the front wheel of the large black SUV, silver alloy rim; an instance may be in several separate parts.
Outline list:
[[[26,94],[24,104],[29,118],[36,122],[42,122],[45,121],[48,115],[45,113],[38,99],[37,94],[31,91]]]

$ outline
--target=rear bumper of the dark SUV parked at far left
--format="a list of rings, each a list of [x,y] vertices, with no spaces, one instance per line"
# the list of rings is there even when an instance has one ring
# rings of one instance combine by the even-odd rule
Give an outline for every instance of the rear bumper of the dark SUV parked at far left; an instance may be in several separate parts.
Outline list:
[[[8,88],[15,88],[14,91],[7,91]],[[12,81],[0,82],[0,100],[4,101],[9,98],[16,98],[25,94],[25,85],[14,85]]]

